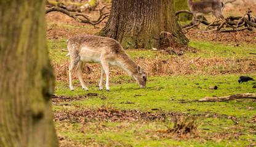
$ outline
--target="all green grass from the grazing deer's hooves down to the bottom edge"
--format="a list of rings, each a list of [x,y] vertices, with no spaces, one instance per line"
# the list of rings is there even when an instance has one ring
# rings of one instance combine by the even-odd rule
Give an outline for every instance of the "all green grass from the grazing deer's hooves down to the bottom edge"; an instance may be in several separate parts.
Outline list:
[[[250,75],[252,76],[252,75]],[[71,142],[79,141],[78,144],[92,145],[89,142],[84,144],[84,140],[94,140],[95,146],[244,146],[250,145],[250,141],[255,140],[256,134],[250,127],[252,124],[247,121],[255,115],[255,100],[234,100],[230,102],[195,102],[206,96],[227,96],[242,92],[256,92],[252,86],[255,84],[250,81],[248,84],[239,85],[237,79],[239,75],[186,75],[175,77],[149,77],[148,88],[140,89],[133,81],[121,85],[111,85],[111,91],[99,91],[95,85],[89,86],[89,92],[97,93],[97,97],[89,97],[81,101],[70,102],[69,104],[79,105],[80,107],[55,106],[55,111],[73,111],[84,108],[114,107],[118,110],[140,110],[151,111],[158,108],[159,111],[176,111],[186,115],[194,115],[198,118],[198,130],[201,141],[196,138],[191,140],[161,138],[162,134],[155,135],[157,130],[166,129],[167,124],[159,121],[153,122],[92,122],[81,126],[79,123],[67,123],[69,130],[60,131],[59,135],[71,138]],[[128,78],[128,77],[126,77]],[[218,86],[217,90],[208,89],[209,86]],[[80,85],[75,87],[75,91],[70,91],[67,84],[57,83],[56,94],[65,96],[85,95],[88,92],[82,90]],[[100,99],[106,97],[106,99]],[[134,104],[124,104],[122,102],[133,102]],[[254,108],[250,110],[249,107]],[[235,118],[238,125],[234,126],[230,118]],[[65,122],[62,122],[65,123]],[[58,122],[57,124],[62,124]],[[98,124],[100,123],[100,124]],[[103,125],[106,128],[98,130]],[[117,126],[121,127],[121,129]],[[84,126],[89,127],[81,133]],[[57,127],[58,128],[58,127]],[[62,127],[59,127],[62,130]],[[209,129],[209,130],[204,130]],[[240,134],[232,138],[232,134]],[[207,140],[209,134],[212,140]],[[226,138],[218,137],[228,134]],[[230,134],[230,135],[229,135]],[[216,137],[215,137],[216,136]],[[199,137],[199,138],[200,138]],[[215,137],[215,138],[214,138]],[[86,139],[87,138],[87,139]],[[217,142],[216,142],[217,141]],[[110,143],[110,144],[108,144]]]

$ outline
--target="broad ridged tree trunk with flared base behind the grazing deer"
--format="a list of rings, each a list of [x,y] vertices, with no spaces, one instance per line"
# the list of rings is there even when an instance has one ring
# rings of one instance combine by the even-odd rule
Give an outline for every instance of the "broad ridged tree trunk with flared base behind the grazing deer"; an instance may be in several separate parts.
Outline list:
[[[112,0],[110,18],[97,35],[116,39],[124,48],[151,49],[163,42],[162,31],[188,43],[175,20],[173,0]]]

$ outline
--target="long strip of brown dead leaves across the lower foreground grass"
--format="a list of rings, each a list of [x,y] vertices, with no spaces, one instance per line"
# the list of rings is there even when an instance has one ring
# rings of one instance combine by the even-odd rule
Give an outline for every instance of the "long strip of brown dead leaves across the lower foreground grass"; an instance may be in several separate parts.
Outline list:
[[[177,112],[143,112],[139,110],[117,110],[111,107],[99,107],[97,110],[54,111],[54,121],[68,121],[71,123],[86,123],[89,121],[166,121],[167,117],[182,116]]]

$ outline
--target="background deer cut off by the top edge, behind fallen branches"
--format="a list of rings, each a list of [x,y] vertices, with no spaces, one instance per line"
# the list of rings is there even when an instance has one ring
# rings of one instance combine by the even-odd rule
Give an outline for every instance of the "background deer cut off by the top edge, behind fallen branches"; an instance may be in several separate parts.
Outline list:
[[[193,18],[196,20],[198,16],[200,16],[200,20],[202,20],[203,15],[215,15],[215,17],[220,20],[224,20],[222,15],[222,10],[225,7],[223,2],[219,0],[209,0],[209,1],[194,1],[188,0],[188,7],[190,11],[193,13]]]

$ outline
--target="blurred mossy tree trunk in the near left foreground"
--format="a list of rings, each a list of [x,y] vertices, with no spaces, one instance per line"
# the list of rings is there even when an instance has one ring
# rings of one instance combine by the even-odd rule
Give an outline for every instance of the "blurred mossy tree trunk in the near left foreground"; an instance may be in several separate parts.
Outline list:
[[[0,1],[0,146],[58,146],[46,1]]]

